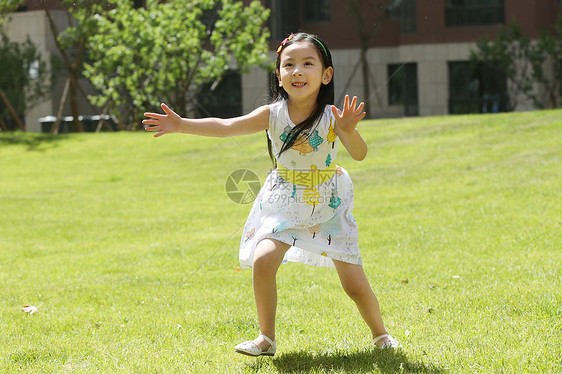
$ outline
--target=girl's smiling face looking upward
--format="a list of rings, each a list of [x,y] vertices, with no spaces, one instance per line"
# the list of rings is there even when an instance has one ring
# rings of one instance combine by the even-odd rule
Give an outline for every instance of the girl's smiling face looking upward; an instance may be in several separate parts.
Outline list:
[[[277,71],[279,85],[291,99],[318,96],[322,84],[332,80],[333,68],[324,68],[318,49],[309,42],[291,44],[283,49]]]

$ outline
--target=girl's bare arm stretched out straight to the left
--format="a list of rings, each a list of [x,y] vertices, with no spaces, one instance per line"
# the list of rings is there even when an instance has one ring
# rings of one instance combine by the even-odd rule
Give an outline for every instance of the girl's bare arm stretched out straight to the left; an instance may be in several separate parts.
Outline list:
[[[154,137],[174,132],[224,138],[253,134],[269,127],[269,108],[262,106],[253,112],[234,118],[182,118],[166,104],[161,105],[165,114],[145,113],[142,121],[146,131],[158,131]]]

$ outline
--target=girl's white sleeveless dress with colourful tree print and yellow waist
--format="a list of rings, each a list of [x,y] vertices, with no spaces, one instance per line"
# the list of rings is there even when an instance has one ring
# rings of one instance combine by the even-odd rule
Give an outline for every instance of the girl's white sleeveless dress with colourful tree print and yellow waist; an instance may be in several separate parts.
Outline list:
[[[269,106],[268,136],[277,157],[295,126],[287,101]],[[272,238],[291,245],[284,262],[333,267],[331,259],[361,264],[353,209],[353,184],[335,165],[338,140],[334,117],[326,106],[306,136],[277,158],[246,221],[240,242],[240,265],[252,267],[257,244]]]

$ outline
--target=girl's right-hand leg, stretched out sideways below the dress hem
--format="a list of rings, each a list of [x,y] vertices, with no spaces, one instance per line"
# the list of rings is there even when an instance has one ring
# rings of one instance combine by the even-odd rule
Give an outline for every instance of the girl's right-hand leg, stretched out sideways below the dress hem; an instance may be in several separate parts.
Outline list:
[[[363,267],[338,260],[333,261],[343,289],[357,305],[359,313],[371,329],[373,338],[388,334],[382,321],[379,302],[369,285]],[[387,338],[381,339],[377,344],[384,344],[387,340]]]

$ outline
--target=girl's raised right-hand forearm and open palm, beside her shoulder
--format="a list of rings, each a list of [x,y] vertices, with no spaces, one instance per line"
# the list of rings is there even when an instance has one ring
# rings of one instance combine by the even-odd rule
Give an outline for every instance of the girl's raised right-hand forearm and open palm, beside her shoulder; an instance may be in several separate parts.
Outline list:
[[[335,132],[340,137],[345,149],[354,160],[361,161],[367,156],[367,144],[356,127],[366,113],[363,112],[363,106],[365,105],[363,102],[359,104],[357,109],[355,108],[356,105],[357,96],[354,96],[350,103],[349,95],[345,95],[343,111],[332,105],[332,113],[336,118]]]

